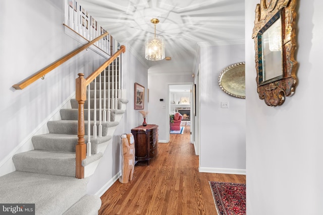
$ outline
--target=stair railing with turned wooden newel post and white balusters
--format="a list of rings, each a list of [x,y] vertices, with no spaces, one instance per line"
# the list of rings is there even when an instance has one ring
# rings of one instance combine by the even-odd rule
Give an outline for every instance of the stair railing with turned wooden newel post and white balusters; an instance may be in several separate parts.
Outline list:
[[[103,104],[107,102],[107,109],[108,111],[110,111],[110,103],[111,106],[113,105],[112,109],[117,109],[118,108],[118,98],[122,98],[121,94],[123,92],[122,89],[117,89],[117,87],[114,88],[114,84],[117,85],[116,83],[112,83],[112,87],[111,87],[111,94],[112,94],[112,98],[110,98],[110,64],[112,64],[112,82],[113,80],[117,81],[118,77],[117,77],[117,70],[116,73],[114,73],[114,61],[115,59],[119,58],[119,64],[120,61],[122,60],[122,53],[124,53],[126,51],[126,47],[125,46],[121,46],[120,49],[113,54],[108,60],[106,60],[103,64],[101,64],[95,71],[93,71],[93,73],[91,75],[89,75],[87,78],[84,78],[84,74],[78,74],[78,78],[76,79],[76,100],[78,102],[78,131],[77,131],[77,136],[78,136],[78,141],[77,141],[77,145],[76,145],[76,171],[75,171],[75,177],[76,178],[84,178],[84,167],[82,166],[82,161],[86,158],[86,156],[91,156],[91,142],[90,142],[90,138],[88,137],[88,142],[87,144],[85,144],[85,121],[84,121],[84,104],[86,101],[86,88],[88,88],[88,97],[89,97],[89,91],[90,91],[90,83],[92,83],[94,81],[94,99],[93,99],[93,129],[92,129],[92,135],[93,138],[96,138],[96,121],[99,121],[99,126],[98,128],[101,129],[101,131],[99,130],[98,133],[99,135],[101,134],[102,136],[102,125],[101,122],[104,120],[110,120],[111,116],[109,114],[107,114],[106,118],[101,118],[101,103],[99,102],[99,119],[97,120],[97,116],[96,116],[96,78],[99,76],[99,101],[102,100],[101,98],[101,74],[103,74],[103,80],[105,83],[105,71],[106,68],[108,68],[108,98],[105,98],[106,100],[103,101]],[[121,59],[120,59],[121,57]],[[116,60],[117,61],[117,60]],[[117,63],[116,63],[117,64]],[[120,64],[121,65],[121,64]],[[117,68],[117,67],[116,67]],[[119,70],[121,70],[121,67],[119,67]],[[116,74],[116,75],[115,75]],[[120,73],[119,73],[120,76]],[[119,77],[119,80],[122,80],[121,77]],[[120,81],[119,81],[119,86],[121,86]],[[122,86],[121,86],[122,87]],[[115,94],[119,94],[116,95],[116,98],[114,98],[114,91],[116,91]],[[118,93],[118,91],[120,93]],[[104,88],[104,92],[103,95],[105,95],[105,88]],[[90,121],[91,121],[91,116],[90,116],[90,97],[88,98],[88,136],[90,136]],[[104,109],[104,107],[103,107]],[[104,114],[103,114],[104,115]],[[95,128],[94,128],[95,126]]]

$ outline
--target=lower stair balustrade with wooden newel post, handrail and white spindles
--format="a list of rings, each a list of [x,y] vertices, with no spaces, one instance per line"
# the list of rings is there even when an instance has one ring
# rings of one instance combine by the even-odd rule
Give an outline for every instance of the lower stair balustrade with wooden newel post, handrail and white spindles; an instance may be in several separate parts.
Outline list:
[[[107,109],[110,111],[111,109],[118,109],[118,99],[123,99],[124,92],[122,89],[122,76],[123,76],[123,70],[122,70],[122,53],[126,51],[125,46],[121,46],[120,49],[113,54],[108,60],[106,60],[102,65],[100,65],[91,75],[89,75],[87,78],[84,78],[84,74],[78,74],[79,77],[76,79],[76,100],[78,102],[78,130],[77,130],[77,136],[78,141],[75,148],[76,151],[76,171],[75,171],[75,177],[76,178],[84,178],[84,167],[82,166],[82,161],[86,159],[86,156],[91,156],[91,142],[90,138],[88,139],[87,144],[85,144],[85,119],[84,119],[84,104],[85,101],[88,100],[88,126],[87,126],[87,134],[88,137],[91,136],[92,131],[92,138],[97,138],[102,136],[102,122],[109,122],[110,121],[110,114],[105,114],[105,104],[108,104]],[[116,64],[114,64],[116,60]],[[112,64],[112,73],[110,73],[110,64]],[[117,65],[119,64],[119,66]],[[115,65],[115,66],[114,66]],[[116,68],[116,69],[115,69]],[[117,69],[118,68],[118,69]],[[101,89],[102,83],[101,83],[101,77],[103,77],[103,86],[105,86],[105,73],[106,70],[108,70],[109,74],[107,75],[107,92],[106,88],[103,87],[103,91]],[[110,75],[112,74],[112,80],[110,80]],[[97,77],[99,78],[99,97],[96,97],[96,80]],[[90,105],[90,98],[86,98],[86,92],[88,87],[88,97],[90,96],[90,84],[94,82],[94,96],[92,99],[93,102],[93,117],[90,116],[90,109],[92,108]],[[110,82],[112,82],[112,87],[110,88]],[[110,97],[110,90],[112,92],[112,95]],[[103,100],[102,100],[102,92],[103,92]],[[108,98],[105,98],[105,95],[108,95]],[[98,101],[98,110],[96,109],[96,101]],[[102,110],[102,102],[103,101],[103,110]],[[99,116],[96,115],[96,112],[98,111]],[[103,114],[101,114],[103,113]],[[102,116],[103,115],[103,116]],[[91,118],[93,118],[93,127],[91,129]],[[99,125],[97,126],[97,121]],[[97,130],[98,127],[98,130]]]

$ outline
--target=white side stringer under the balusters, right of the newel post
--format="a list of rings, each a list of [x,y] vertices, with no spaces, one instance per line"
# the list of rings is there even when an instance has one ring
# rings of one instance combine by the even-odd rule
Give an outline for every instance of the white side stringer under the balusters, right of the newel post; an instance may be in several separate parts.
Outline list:
[[[126,99],[119,99],[119,105],[121,105],[121,109],[117,109],[117,110],[111,110],[111,111],[115,111],[116,113],[116,116],[115,116],[115,121],[116,122],[120,122],[123,115],[124,115],[124,111],[126,110],[126,107],[127,107],[127,103],[128,103],[128,100]],[[120,110],[122,110],[120,112]],[[119,124],[118,124],[119,125]],[[116,129],[117,129],[117,126],[114,126],[114,127],[109,127],[109,130],[107,131],[107,135],[111,135],[113,136]],[[95,154],[94,156],[97,156],[97,159],[95,161],[92,161],[91,157],[92,156],[87,156],[86,159],[84,159],[82,161],[82,166],[84,167],[84,178],[87,178],[87,177],[90,177],[91,175],[93,175],[94,171],[96,170],[100,160],[101,160],[101,157],[103,156],[104,154],[104,151],[105,149],[107,148],[107,146],[109,144],[111,144],[113,141],[113,138],[111,138],[110,140],[106,141],[106,142],[102,142],[101,144],[99,144],[99,146],[97,147],[97,154]],[[91,160],[91,161],[90,161]]]

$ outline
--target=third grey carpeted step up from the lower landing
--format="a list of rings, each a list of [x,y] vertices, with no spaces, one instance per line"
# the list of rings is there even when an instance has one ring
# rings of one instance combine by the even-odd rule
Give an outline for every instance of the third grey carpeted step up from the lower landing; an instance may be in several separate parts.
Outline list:
[[[55,120],[55,121],[48,121],[47,122],[47,127],[49,130],[49,133],[65,133],[65,134],[76,134],[77,135],[77,130],[78,130],[78,126],[77,126],[77,120]],[[107,130],[109,127],[114,127],[117,126],[119,124],[119,122],[102,122],[102,136],[106,136],[107,135]],[[85,122],[85,132],[87,133],[87,121]],[[94,122],[91,121],[91,127],[90,127],[90,131],[91,131],[91,135],[93,134],[93,125]],[[97,132],[96,134],[98,134],[98,122],[96,123],[97,125]]]

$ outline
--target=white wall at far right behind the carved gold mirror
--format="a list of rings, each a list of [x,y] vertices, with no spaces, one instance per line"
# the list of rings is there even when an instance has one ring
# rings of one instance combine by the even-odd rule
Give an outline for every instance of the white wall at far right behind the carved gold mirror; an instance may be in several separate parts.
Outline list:
[[[278,107],[258,98],[251,34],[259,1],[245,2],[247,214],[322,214],[323,2],[297,1],[299,84]]]

